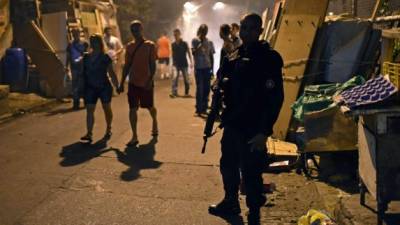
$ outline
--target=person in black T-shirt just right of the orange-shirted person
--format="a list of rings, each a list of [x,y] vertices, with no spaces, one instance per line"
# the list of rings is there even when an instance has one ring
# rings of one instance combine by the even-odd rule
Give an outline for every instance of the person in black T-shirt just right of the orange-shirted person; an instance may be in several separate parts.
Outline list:
[[[185,96],[189,96],[189,72],[188,72],[188,61],[190,60],[190,67],[193,65],[192,55],[189,50],[189,45],[186,41],[182,40],[181,31],[179,29],[174,30],[175,42],[172,43],[172,61],[176,69],[176,75],[172,79],[172,92],[170,97],[174,98],[178,96],[178,83],[179,75],[182,74],[185,82]]]

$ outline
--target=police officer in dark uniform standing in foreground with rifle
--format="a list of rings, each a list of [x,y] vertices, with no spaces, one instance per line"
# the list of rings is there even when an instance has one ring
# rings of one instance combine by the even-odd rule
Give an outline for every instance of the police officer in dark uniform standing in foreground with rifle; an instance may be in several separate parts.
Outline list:
[[[249,224],[260,223],[260,207],[266,202],[262,172],[266,166],[266,141],[272,134],[283,103],[282,66],[279,53],[259,41],[262,20],[248,14],[241,20],[243,44],[224,59],[218,76],[223,77],[222,156],[220,171],[225,197],[209,207],[213,215],[240,214],[240,172],[246,188]]]

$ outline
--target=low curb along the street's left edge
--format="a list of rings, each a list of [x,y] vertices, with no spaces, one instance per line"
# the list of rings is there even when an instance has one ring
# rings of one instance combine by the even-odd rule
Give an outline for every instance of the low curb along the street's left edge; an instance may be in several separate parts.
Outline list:
[[[57,99],[50,99],[44,103],[35,104],[25,109],[19,109],[17,112],[14,113],[6,113],[4,115],[0,115],[0,124],[5,124],[7,122],[13,121],[14,119],[26,115],[27,113],[45,111],[46,109],[55,107],[59,104],[63,103],[58,101]]]

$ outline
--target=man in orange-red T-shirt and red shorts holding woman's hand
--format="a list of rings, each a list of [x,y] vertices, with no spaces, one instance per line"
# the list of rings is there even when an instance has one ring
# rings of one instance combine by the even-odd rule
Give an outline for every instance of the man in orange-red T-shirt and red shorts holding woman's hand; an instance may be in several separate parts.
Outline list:
[[[130,25],[134,41],[128,43],[125,53],[125,66],[118,92],[124,91],[124,83],[129,75],[128,102],[129,121],[132,128],[132,138],[128,147],[136,146],[137,111],[139,107],[149,110],[153,119],[152,136],[158,135],[157,110],[154,107],[154,74],[156,72],[156,46],[143,37],[143,25],[135,20]]]

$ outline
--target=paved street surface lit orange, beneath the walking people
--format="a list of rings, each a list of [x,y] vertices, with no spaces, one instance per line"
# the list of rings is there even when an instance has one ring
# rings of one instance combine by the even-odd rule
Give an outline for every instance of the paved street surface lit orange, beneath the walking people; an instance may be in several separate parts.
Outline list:
[[[85,111],[72,112],[67,104],[0,125],[0,224],[243,224],[207,213],[222,197],[220,134],[201,155],[204,121],[193,117],[194,99],[170,99],[169,81],[156,88],[160,135],[151,138],[150,116],[140,110],[138,149],[125,148],[131,135],[125,94],[113,99],[108,143],[80,144]],[[95,141],[105,130],[100,109]],[[263,223],[296,224],[308,209],[323,208],[314,184],[302,176],[265,178],[278,191],[263,208]]]

